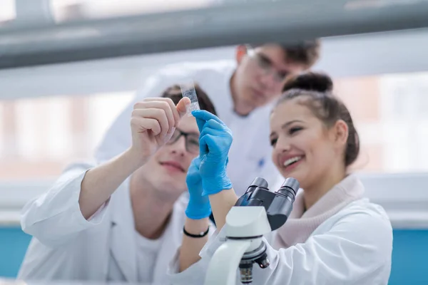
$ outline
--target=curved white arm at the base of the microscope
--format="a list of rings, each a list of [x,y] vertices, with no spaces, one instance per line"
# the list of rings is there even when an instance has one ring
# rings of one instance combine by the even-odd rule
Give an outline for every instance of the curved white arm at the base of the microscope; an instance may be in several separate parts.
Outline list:
[[[236,272],[245,251],[251,246],[250,240],[230,239],[222,244],[210,261],[205,285],[235,285]]]

